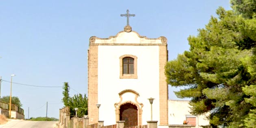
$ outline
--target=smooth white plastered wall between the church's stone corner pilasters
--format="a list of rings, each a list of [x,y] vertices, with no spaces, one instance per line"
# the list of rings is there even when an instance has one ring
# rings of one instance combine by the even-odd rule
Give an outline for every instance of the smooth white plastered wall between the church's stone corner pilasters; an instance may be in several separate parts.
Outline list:
[[[119,57],[125,54],[137,56],[137,79],[120,79]],[[153,102],[153,120],[159,122],[159,48],[158,46],[98,46],[98,103],[100,120],[104,125],[115,124],[115,106],[118,93],[132,89],[139,93],[143,103],[142,124],[150,120],[150,103]]]

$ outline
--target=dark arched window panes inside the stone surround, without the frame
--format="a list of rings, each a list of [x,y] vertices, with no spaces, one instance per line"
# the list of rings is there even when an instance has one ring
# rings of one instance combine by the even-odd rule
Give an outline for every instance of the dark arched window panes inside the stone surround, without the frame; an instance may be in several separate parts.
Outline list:
[[[134,59],[131,57],[123,58],[123,74],[134,74]]]

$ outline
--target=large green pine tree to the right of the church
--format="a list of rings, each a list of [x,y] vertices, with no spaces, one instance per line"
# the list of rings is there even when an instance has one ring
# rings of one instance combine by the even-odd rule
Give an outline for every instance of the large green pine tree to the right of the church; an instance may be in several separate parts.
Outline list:
[[[210,113],[207,127],[255,128],[256,0],[231,3],[234,10],[220,7],[218,18],[188,38],[189,51],[169,61],[165,75],[169,85],[184,87],[175,94],[191,98],[192,114]]]

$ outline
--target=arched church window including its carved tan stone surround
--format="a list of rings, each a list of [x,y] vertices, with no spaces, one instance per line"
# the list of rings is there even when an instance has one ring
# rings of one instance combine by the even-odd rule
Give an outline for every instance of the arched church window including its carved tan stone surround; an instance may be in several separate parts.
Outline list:
[[[137,56],[123,55],[120,59],[120,78],[137,79]]]

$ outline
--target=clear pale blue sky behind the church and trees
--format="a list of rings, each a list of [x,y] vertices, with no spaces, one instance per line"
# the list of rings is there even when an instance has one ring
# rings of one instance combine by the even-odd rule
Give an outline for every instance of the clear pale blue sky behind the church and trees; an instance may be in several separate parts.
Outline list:
[[[170,61],[189,50],[189,35],[196,36],[220,6],[231,9],[229,0],[1,0],[0,96],[10,95],[15,74],[12,96],[20,98],[25,118],[46,117],[46,102],[48,117],[59,118],[63,82],[70,96],[87,94],[89,38],[124,30],[120,14],[127,9],[136,15],[132,30],[167,38]],[[178,100],[178,90],[169,86],[169,99]]]

